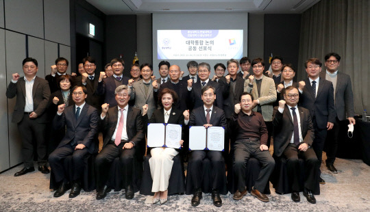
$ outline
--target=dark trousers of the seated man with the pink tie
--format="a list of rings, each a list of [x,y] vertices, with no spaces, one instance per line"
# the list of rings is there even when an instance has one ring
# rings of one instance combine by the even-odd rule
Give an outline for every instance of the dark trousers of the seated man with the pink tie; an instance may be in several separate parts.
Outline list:
[[[136,148],[122,149],[126,142],[121,142],[119,146],[116,146],[114,142],[110,142],[101,150],[95,159],[95,165],[97,169],[97,189],[102,189],[106,185],[108,179],[108,173],[113,160],[119,157],[121,162],[122,174],[125,176],[124,186],[130,185],[132,182],[132,168],[134,164],[134,158]]]

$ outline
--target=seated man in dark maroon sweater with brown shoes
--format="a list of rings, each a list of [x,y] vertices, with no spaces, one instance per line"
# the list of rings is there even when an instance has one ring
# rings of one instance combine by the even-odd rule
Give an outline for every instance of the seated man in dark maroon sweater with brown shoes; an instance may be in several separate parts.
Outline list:
[[[260,161],[262,168],[256,183],[251,189],[251,195],[262,202],[269,202],[269,198],[262,194],[269,182],[269,177],[275,167],[275,161],[267,147],[267,127],[260,113],[252,111],[253,96],[244,92],[240,96],[240,103],[235,105],[234,114],[229,122],[229,130],[235,134],[234,143],[234,175],[238,179],[238,190],[234,200],[240,200],[247,194],[245,187],[245,170],[250,157]],[[241,110],[241,111],[240,111]]]

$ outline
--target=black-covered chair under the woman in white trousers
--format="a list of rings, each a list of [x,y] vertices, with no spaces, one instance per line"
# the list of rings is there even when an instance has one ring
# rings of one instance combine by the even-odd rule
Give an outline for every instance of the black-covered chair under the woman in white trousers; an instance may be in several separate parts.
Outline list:
[[[151,158],[150,154],[144,158],[143,181],[140,187],[140,194],[144,195],[154,195],[154,193],[151,192],[153,179],[151,178],[149,166],[150,158]],[[182,163],[182,157],[180,156],[180,154],[177,154],[175,157],[173,157],[171,176],[169,178],[168,195],[184,194],[184,192],[185,192],[184,165]]]

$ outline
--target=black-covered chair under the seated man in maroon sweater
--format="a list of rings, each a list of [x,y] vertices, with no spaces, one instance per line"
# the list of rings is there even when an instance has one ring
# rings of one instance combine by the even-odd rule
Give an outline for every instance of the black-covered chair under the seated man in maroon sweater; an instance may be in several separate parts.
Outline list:
[[[233,157],[232,157],[233,158]],[[232,160],[227,164],[227,187],[231,194],[234,194],[238,190],[238,179],[234,177],[234,170],[232,168]],[[252,187],[256,183],[258,175],[260,174],[261,165],[258,159],[251,157],[247,162],[247,169],[245,176],[245,185],[248,192],[251,192]],[[263,194],[271,194],[269,182],[267,182],[266,187],[263,191]]]

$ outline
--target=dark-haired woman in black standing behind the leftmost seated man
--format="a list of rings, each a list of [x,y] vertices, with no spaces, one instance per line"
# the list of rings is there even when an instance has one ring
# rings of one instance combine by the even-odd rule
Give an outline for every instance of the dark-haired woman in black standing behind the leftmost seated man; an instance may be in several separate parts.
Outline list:
[[[48,115],[49,120],[53,120],[54,116],[56,116],[56,112],[58,111],[58,105],[65,104],[66,107],[69,105],[73,105],[73,99],[71,95],[71,76],[69,75],[62,75],[58,78],[58,85],[59,90],[53,92],[49,98],[48,104]],[[51,153],[59,144],[60,140],[64,137],[65,129],[62,128],[58,131],[53,130],[51,124],[49,124],[49,131],[50,139],[49,139],[49,153]]]

